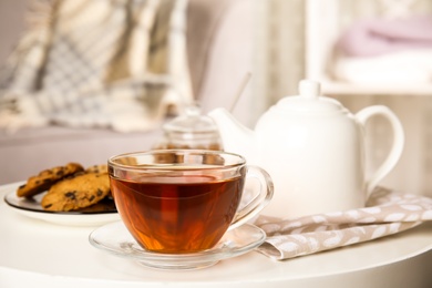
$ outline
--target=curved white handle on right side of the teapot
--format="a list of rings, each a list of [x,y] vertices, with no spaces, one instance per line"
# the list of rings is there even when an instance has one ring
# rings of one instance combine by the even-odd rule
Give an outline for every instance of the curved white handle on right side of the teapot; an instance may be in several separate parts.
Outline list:
[[[377,187],[380,181],[382,181],[382,178],[393,169],[393,167],[395,166],[395,164],[398,163],[398,161],[402,155],[403,145],[404,145],[404,132],[403,132],[402,124],[399,121],[398,116],[389,107],[383,105],[369,106],[359,111],[356,114],[356,119],[364,127],[368,120],[376,115],[381,115],[384,116],[387,120],[389,120],[391,127],[393,130],[393,144],[391,146],[391,150],[387,158],[383,161],[383,163],[377,169],[377,172],[372,175],[372,177],[367,182],[366,198],[369,198],[370,194]]]

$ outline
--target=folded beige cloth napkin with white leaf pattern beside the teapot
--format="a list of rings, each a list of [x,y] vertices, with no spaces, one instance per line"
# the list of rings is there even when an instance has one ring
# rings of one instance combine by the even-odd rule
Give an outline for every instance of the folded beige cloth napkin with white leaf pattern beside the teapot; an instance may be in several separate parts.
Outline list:
[[[260,216],[255,225],[266,232],[267,239],[257,249],[284,260],[370,241],[426,220],[432,220],[432,198],[379,187],[364,208],[294,219]]]

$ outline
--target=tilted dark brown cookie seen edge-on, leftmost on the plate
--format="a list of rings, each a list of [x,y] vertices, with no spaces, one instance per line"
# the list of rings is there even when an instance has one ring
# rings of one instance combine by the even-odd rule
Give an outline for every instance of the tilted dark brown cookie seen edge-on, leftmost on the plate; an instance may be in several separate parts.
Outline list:
[[[48,191],[53,184],[62,178],[83,171],[84,168],[81,164],[72,162],[64,166],[44,169],[35,176],[29,177],[25,184],[19,186],[17,189],[17,196],[30,198],[39,193]]]

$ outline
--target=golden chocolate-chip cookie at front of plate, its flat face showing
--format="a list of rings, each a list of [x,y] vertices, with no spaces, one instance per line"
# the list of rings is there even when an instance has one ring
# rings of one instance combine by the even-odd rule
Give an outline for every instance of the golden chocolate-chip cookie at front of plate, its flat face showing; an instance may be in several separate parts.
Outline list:
[[[85,173],[58,182],[42,197],[42,208],[53,212],[79,210],[110,195],[107,174]]]

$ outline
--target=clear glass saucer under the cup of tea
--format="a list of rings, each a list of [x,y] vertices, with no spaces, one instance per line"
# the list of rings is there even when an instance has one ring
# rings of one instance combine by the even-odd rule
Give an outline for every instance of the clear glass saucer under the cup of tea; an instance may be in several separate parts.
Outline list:
[[[215,265],[219,260],[248,253],[264,243],[266,234],[260,228],[245,224],[227,232],[212,249],[193,254],[162,254],[142,248],[122,222],[111,223],[93,230],[90,243],[116,256],[131,258],[158,269],[189,270]]]

